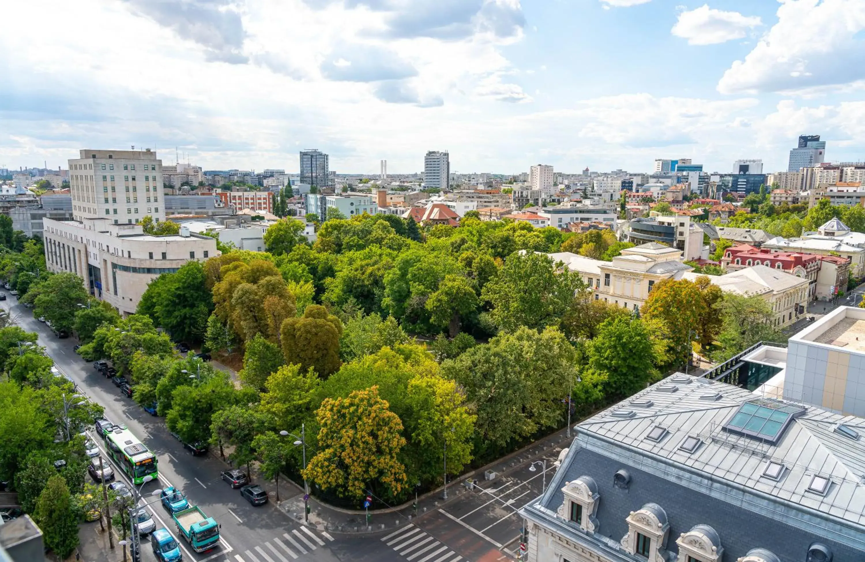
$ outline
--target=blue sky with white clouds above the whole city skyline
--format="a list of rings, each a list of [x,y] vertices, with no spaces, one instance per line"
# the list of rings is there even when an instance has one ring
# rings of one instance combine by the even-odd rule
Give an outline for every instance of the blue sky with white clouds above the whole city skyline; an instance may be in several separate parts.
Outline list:
[[[26,0],[0,30],[0,168],[81,148],[337,173],[785,170],[865,160],[865,0]],[[188,156],[184,157],[183,154]]]

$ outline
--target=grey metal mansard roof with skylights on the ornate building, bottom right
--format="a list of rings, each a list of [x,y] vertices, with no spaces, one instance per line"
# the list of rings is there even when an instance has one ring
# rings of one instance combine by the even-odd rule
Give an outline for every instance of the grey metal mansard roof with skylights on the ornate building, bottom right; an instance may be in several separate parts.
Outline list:
[[[714,399],[716,393],[721,399]],[[681,374],[650,386],[578,425],[546,494],[523,513],[561,527],[553,521],[563,499],[561,488],[588,475],[599,484],[595,541],[620,540],[628,514],[657,503],[670,517],[668,548],[674,551],[679,533],[709,525],[720,536],[724,560],[756,547],[782,560],[804,559],[815,540],[830,545],[835,559],[861,558],[865,438],[854,440],[834,430],[843,423],[865,436],[865,419],[808,406],[787,425],[777,445],[723,431],[740,406],[754,399],[759,397],[737,386]],[[651,406],[645,406],[646,400]],[[633,412],[632,417],[625,412]],[[646,438],[656,426],[666,430],[663,437]],[[693,453],[680,449],[686,437],[702,442]],[[785,466],[777,481],[763,476],[770,461]],[[627,489],[613,485],[620,469],[631,475]],[[807,490],[816,475],[831,480],[825,496]]]

